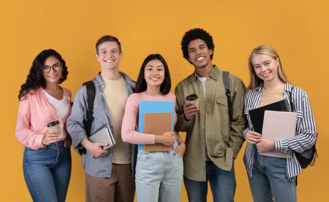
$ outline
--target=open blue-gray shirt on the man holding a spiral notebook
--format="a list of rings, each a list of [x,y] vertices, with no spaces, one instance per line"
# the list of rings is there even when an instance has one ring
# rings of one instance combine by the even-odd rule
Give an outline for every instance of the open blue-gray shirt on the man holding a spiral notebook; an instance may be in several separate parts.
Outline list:
[[[126,82],[126,88],[128,96],[134,93],[136,83],[131,80],[123,72],[120,75]],[[107,105],[104,97],[102,96],[104,90],[104,83],[97,74],[96,78],[93,79],[96,88],[96,97],[94,102],[94,121],[92,126],[91,134],[93,134],[103,124],[107,123],[113,132],[113,125],[111,118],[109,117]],[[115,95],[113,95],[115,97]],[[84,138],[87,138],[86,131],[84,130],[83,120],[87,120],[87,88],[83,85],[77,91],[74,99],[74,105],[70,117],[67,119],[66,128],[70,136],[72,137],[72,145],[75,150],[83,148],[80,144]],[[106,156],[102,158],[94,158],[88,151],[82,155],[82,168],[85,169],[86,173],[95,177],[111,177],[112,171],[112,157],[113,147],[109,149]],[[137,158],[137,145],[131,144],[131,162],[133,176],[135,175]]]

